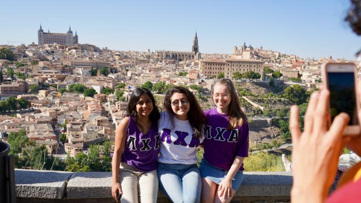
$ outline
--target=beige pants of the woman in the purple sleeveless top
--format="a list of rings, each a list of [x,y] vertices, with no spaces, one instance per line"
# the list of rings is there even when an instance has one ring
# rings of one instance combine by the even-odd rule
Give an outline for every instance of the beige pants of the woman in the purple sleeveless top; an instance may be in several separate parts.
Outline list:
[[[120,199],[122,203],[155,203],[157,201],[158,175],[156,170],[141,172],[122,162],[119,170],[119,182],[123,190]]]

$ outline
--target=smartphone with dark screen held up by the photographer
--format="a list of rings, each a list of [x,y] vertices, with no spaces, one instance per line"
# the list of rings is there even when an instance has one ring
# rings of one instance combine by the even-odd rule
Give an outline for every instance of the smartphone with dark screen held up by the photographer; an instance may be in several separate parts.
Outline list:
[[[359,135],[361,128],[357,118],[359,97],[356,91],[357,68],[354,63],[325,63],[322,66],[324,87],[330,92],[329,124],[341,112],[349,115],[350,120],[344,135]]]

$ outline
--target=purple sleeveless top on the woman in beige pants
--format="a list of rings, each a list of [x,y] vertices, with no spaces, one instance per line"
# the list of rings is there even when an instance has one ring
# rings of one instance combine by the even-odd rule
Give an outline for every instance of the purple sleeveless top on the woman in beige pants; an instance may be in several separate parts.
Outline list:
[[[134,119],[129,116],[126,128],[126,142],[121,161],[134,166],[139,171],[148,172],[157,168],[157,157],[160,150],[158,128],[153,122],[149,132],[140,132]]]

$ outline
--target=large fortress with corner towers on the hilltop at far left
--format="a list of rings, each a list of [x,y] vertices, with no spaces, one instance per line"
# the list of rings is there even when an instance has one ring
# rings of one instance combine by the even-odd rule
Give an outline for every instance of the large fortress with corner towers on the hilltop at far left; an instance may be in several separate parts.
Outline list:
[[[45,44],[59,44],[59,45],[75,45],[78,44],[78,35],[75,32],[75,36],[73,36],[73,31],[69,26],[69,30],[67,33],[51,33],[44,32],[42,26],[40,25],[40,29],[38,31],[38,44],[39,46],[44,46]]]

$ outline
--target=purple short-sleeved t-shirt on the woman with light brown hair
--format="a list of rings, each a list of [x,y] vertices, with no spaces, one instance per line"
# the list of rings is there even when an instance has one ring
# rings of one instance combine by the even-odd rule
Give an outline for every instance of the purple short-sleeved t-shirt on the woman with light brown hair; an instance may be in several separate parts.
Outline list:
[[[218,113],[217,108],[205,111],[208,122],[205,128],[204,158],[213,166],[229,170],[236,156],[248,157],[248,123],[227,130],[228,114]],[[244,170],[243,163],[240,170]]]

